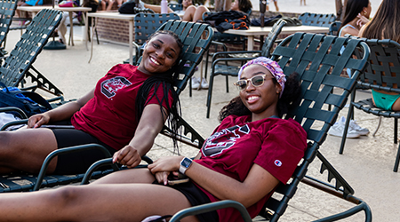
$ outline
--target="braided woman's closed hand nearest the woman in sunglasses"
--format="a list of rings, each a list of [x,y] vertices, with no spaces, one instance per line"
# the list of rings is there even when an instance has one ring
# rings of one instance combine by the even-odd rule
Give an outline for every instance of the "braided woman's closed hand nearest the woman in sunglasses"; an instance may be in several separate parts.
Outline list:
[[[125,146],[113,155],[113,163],[121,163],[128,168],[134,168],[141,162],[137,149],[132,146]]]

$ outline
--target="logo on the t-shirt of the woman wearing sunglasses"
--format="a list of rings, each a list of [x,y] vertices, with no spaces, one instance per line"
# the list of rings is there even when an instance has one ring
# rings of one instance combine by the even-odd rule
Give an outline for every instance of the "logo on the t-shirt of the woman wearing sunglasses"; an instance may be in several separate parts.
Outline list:
[[[228,129],[217,131],[205,142],[202,152],[205,156],[219,155],[222,151],[232,147],[242,135],[250,132],[249,126],[232,126]]]

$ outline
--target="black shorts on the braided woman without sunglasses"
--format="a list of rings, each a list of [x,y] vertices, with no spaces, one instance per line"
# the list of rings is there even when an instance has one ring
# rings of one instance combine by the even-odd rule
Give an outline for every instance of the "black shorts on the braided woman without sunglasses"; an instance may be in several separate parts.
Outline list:
[[[52,123],[53,125],[66,125],[68,122]],[[70,123],[69,123],[70,125]],[[100,144],[106,147],[111,155],[116,152],[116,149],[107,146],[99,139],[93,137],[91,134],[84,131],[78,131],[75,129],[53,129],[51,128],[54,136],[57,140],[57,147],[73,147],[79,145],[85,145],[90,143]],[[90,149],[84,151],[78,151],[70,154],[58,155],[58,161],[54,174],[78,174],[84,173],[92,163],[106,158],[98,149]]]

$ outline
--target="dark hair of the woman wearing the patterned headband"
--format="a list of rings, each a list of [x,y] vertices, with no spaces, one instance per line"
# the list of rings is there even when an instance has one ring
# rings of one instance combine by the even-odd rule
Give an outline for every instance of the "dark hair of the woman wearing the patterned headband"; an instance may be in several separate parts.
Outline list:
[[[277,83],[276,78],[272,78],[274,83]],[[282,96],[277,101],[276,109],[278,116],[282,118],[284,114],[287,114],[288,110],[292,109],[292,107],[296,107],[300,102],[300,82],[299,82],[299,74],[292,73],[286,77],[286,83],[284,83],[284,92]],[[242,99],[239,96],[229,101],[228,105],[222,107],[220,110],[220,115],[218,116],[218,120],[222,122],[228,115],[252,115],[252,112],[244,106]]]

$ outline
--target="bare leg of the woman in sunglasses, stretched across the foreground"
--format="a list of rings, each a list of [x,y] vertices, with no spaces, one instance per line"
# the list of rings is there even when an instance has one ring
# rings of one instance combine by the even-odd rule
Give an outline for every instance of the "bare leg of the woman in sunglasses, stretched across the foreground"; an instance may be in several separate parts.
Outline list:
[[[148,184],[64,186],[31,193],[0,194],[4,221],[141,221],[190,207],[185,195]],[[188,217],[182,221],[197,221]]]

